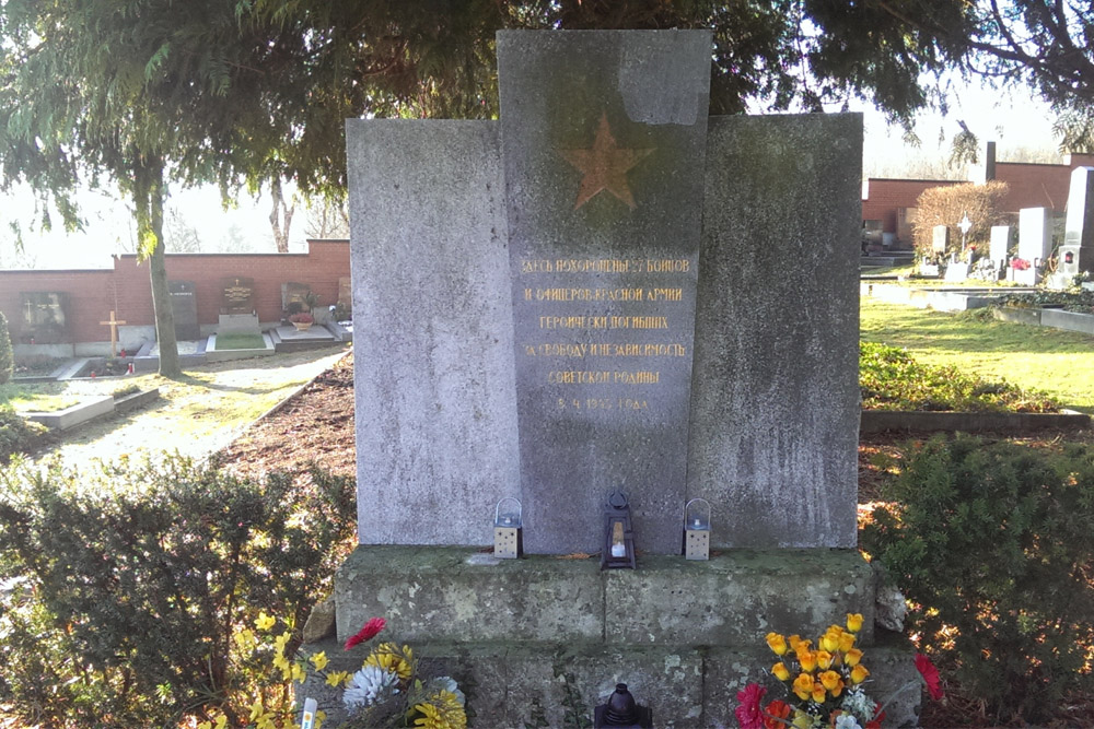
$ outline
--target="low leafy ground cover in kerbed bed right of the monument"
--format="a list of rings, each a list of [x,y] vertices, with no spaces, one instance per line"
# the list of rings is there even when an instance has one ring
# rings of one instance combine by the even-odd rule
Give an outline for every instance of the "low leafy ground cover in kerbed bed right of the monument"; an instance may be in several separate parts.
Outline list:
[[[916,362],[896,346],[859,344],[859,386],[866,410],[1057,412],[1060,403],[1009,383],[989,383],[955,366]]]

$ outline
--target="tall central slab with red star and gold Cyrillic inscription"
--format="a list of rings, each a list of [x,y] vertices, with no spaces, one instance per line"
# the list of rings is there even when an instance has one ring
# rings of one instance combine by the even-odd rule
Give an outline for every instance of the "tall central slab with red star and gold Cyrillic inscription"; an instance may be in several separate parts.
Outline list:
[[[679,549],[709,32],[498,34],[529,552]]]

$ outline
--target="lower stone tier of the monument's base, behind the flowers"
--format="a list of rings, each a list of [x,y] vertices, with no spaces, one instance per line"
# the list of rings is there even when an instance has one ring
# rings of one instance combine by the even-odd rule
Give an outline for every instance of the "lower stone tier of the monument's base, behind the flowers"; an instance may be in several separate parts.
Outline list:
[[[403,642],[401,634],[380,639]],[[758,643],[758,645],[757,645]],[[305,646],[307,655],[325,650],[328,671],[356,671],[373,644],[346,652],[333,640]],[[710,729],[735,727],[736,694],[748,683],[768,686],[768,699],[784,698],[785,690],[767,673],[773,655],[763,637],[738,649],[706,646],[629,646],[571,643],[565,647],[542,643],[412,643],[423,675],[451,675],[467,694],[473,727],[591,725],[593,709],[603,704],[616,683],[626,683],[635,698],[653,709],[656,727]],[[919,679],[906,645],[885,643],[865,650],[870,669],[868,695],[885,702],[900,686]],[[342,718],[340,692],[310,680],[300,695],[319,701],[331,716]],[[886,727],[917,726],[920,692],[911,689],[888,704]],[[334,709],[334,710],[331,710]],[[586,725],[587,726],[587,725]]]

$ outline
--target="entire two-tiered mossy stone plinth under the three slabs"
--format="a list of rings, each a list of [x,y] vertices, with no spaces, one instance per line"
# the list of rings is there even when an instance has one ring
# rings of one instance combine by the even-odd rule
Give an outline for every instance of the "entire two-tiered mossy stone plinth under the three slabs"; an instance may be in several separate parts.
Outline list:
[[[636,571],[601,572],[595,558],[360,546],[336,578],[337,640],[305,648],[325,650],[329,670],[357,670],[371,644],[340,645],[383,616],[382,639],[409,643],[429,674],[459,682],[472,726],[534,726],[540,710],[549,726],[572,725],[577,710],[591,721],[622,682],[653,709],[655,726],[732,727],[746,683],[783,696],[767,674],[770,631],[816,636],[860,612],[870,695],[884,702],[916,680],[906,642],[874,633],[873,580],[853,550],[742,550],[709,562],[640,555]],[[304,691],[337,707],[329,689]],[[918,690],[901,694],[886,726],[915,726],[918,705]]]

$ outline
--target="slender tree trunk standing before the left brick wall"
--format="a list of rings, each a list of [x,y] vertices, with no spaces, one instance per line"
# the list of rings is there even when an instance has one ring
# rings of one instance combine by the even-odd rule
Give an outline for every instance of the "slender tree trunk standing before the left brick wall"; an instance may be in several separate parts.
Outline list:
[[[167,287],[167,266],[163,255],[163,161],[147,158],[133,176],[133,198],[137,207],[137,239],[140,258],[148,260],[152,282],[152,310],[155,315],[155,338],[160,342],[160,375],[178,377],[178,343],[175,341],[175,317],[171,310]]]

